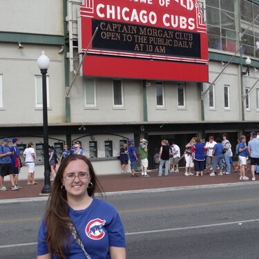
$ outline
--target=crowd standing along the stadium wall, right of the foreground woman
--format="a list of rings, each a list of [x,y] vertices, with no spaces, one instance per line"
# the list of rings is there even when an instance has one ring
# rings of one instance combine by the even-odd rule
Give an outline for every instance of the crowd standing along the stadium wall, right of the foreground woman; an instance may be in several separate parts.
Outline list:
[[[162,176],[164,168],[164,176],[168,176],[169,172],[179,173],[178,164],[181,159],[185,160],[185,176],[194,175],[196,177],[203,176],[204,173],[210,176],[215,175],[229,175],[231,174],[231,166],[233,171],[240,171],[240,180],[249,180],[246,172],[249,170],[247,160],[251,159],[251,174],[252,181],[256,180],[256,171],[259,171],[259,133],[251,132],[250,140],[247,144],[247,138],[242,135],[238,138],[236,145],[236,153],[238,157],[238,164],[233,164],[233,153],[231,143],[229,142],[227,133],[222,135],[222,138],[211,135],[208,142],[202,141],[199,137],[193,137],[191,141],[186,144],[184,154],[181,156],[180,147],[168,140],[162,140],[161,147],[155,152],[154,162],[155,169],[158,171],[158,177]],[[137,169],[137,162],[140,159],[141,176],[149,177],[147,173],[148,168],[148,143],[142,138],[140,139],[140,146],[134,146],[134,140],[128,140],[127,145],[121,148],[120,160],[122,164],[122,173],[126,173],[128,160],[131,162],[131,177],[137,177],[135,173]],[[256,167],[255,167],[256,166]],[[192,168],[194,172],[192,173]],[[256,169],[256,170],[255,170]]]

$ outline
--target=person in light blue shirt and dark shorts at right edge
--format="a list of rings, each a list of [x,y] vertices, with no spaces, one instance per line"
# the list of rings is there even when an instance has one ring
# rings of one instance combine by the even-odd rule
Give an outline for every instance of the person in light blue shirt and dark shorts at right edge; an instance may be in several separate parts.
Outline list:
[[[256,180],[256,175],[254,171],[254,166],[259,165],[259,141],[257,140],[257,133],[252,131],[250,133],[251,140],[248,142],[248,153],[251,158],[251,173],[252,173],[252,181]]]

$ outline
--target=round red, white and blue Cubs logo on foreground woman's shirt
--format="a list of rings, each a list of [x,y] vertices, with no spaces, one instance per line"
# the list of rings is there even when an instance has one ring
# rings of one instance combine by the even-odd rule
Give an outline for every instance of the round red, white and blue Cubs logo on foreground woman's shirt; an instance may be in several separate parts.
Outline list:
[[[86,236],[93,240],[100,240],[104,237],[105,232],[102,227],[104,227],[105,220],[100,220],[99,218],[95,218],[95,220],[90,220],[86,225]]]

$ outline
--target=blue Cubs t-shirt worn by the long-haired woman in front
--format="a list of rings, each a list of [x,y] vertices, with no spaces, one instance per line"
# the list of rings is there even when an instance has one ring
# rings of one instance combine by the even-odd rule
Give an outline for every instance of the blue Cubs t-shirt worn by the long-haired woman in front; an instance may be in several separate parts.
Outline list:
[[[74,222],[77,232],[84,244],[84,248],[91,258],[109,259],[110,247],[126,247],[124,227],[119,213],[104,200],[93,199],[90,206],[81,211],[74,211],[68,207],[69,216]],[[46,226],[44,220],[41,222],[38,235],[37,256],[49,253],[46,244]],[[66,244],[64,243],[65,253]],[[57,256],[52,255],[52,258]],[[70,236],[70,259],[86,259],[83,250]]]

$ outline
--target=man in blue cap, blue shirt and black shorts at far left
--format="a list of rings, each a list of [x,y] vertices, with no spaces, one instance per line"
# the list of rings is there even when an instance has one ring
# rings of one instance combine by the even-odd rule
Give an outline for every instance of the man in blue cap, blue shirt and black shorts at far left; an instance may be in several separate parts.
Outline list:
[[[10,176],[10,182],[12,184],[11,190],[19,190],[19,187],[15,186],[14,171],[11,161],[11,155],[13,154],[13,152],[10,151],[10,147],[8,146],[9,142],[10,140],[8,139],[8,137],[5,137],[3,139],[3,144],[0,146],[0,191],[7,191],[6,187],[3,186],[3,180],[6,175]]]

